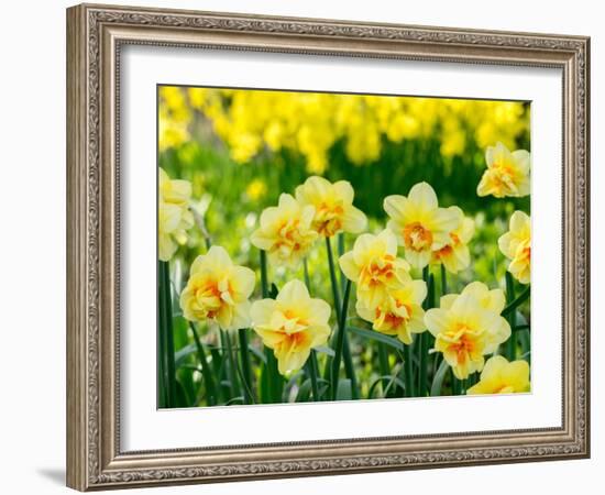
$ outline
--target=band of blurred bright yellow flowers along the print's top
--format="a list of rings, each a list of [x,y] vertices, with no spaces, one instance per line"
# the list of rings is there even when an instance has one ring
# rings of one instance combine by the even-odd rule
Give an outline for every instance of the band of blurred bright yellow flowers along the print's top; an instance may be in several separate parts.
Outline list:
[[[162,87],[160,148],[178,146],[189,138],[193,110],[207,116],[235,162],[246,163],[266,147],[296,150],[307,169],[322,174],[328,152],[345,141],[354,165],[375,162],[384,141],[442,135],[440,152],[448,157],[464,153],[468,142],[485,148],[499,141],[513,147],[529,127],[524,106],[508,101],[480,101],[322,92],[248,91],[237,89]],[[229,105],[226,105],[229,101]]]

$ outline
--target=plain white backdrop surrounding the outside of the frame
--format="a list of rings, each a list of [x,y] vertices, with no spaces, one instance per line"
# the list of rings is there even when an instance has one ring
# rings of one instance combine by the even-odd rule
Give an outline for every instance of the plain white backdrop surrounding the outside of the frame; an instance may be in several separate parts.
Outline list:
[[[147,6],[258,12],[364,21],[453,25],[587,34],[593,36],[592,134],[605,122],[602,62],[605,37],[598,2],[337,2],[297,0],[145,1]],[[67,2],[3,6],[1,31],[2,108],[2,318],[0,455],[3,493],[65,493],[65,12]],[[600,348],[605,339],[597,308],[604,265],[597,253],[605,239],[596,228],[605,208],[603,148],[592,150],[593,174],[593,459],[549,463],[448,469],[388,474],[156,488],[154,493],[302,494],[385,491],[437,493],[600,493],[603,461],[603,404]],[[591,483],[592,482],[592,483]],[[151,493],[140,492],[138,493]],[[134,492],[131,492],[134,493]]]

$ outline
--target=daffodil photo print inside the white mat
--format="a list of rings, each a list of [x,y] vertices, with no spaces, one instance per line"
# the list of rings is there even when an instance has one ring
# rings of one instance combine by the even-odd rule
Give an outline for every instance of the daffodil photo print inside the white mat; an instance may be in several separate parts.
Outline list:
[[[158,86],[158,407],[529,392],[529,120]]]

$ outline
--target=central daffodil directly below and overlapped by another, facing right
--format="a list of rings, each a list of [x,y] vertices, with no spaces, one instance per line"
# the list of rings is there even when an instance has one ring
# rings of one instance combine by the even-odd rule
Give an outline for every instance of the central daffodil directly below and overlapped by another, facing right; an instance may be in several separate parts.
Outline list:
[[[425,310],[421,307],[427,297],[427,284],[409,278],[399,287],[388,290],[387,296],[375,308],[367,307],[363,299],[356,304],[358,315],[373,323],[372,328],[387,336],[397,336],[405,344],[411,344],[413,333],[426,330]]]

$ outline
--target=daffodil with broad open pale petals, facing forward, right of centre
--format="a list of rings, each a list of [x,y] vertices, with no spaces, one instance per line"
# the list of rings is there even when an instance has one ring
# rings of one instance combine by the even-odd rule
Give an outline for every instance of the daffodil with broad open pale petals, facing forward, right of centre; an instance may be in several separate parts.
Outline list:
[[[429,264],[432,252],[451,241],[457,228],[454,210],[439,208],[437,195],[427,183],[416,184],[405,196],[388,196],[384,209],[391,217],[387,227],[405,249],[406,260],[418,268]]]

